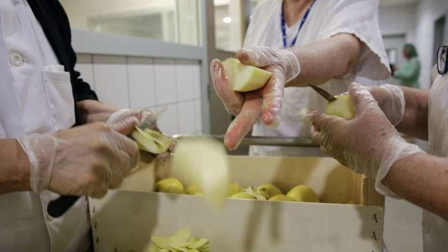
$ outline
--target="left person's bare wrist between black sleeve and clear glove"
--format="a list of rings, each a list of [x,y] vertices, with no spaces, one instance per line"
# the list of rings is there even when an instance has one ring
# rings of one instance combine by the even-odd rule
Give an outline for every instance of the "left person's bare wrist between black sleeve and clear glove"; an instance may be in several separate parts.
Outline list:
[[[104,105],[95,100],[83,100],[76,103],[76,109],[81,124],[93,122],[105,122],[109,116],[118,109],[108,105]]]

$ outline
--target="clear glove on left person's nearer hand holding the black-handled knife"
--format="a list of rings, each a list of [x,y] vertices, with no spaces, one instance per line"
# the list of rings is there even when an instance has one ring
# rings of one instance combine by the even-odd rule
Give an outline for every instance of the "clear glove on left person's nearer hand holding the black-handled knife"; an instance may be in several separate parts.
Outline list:
[[[111,126],[97,122],[18,138],[30,161],[32,190],[103,197],[137,164],[137,144],[125,135],[137,124],[129,117]]]

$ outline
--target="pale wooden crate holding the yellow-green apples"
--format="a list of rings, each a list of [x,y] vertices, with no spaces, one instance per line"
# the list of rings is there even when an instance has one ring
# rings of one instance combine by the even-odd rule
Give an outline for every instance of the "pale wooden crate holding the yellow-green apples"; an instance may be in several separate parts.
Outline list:
[[[270,182],[283,191],[311,186],[322,202],[228,199],[221,210],[203,197],[153,192],[170,164],[143,164],[118,190],[90,200],[96,251],[146,251],[150,236],[181,228],[211,240],[211,251],[380,252],[383,201],[371,180],[331,158],[229,156],[233,180]],[[349,201],[359,205],[345,204]],[[365,206],[367,205],[367,206]]]

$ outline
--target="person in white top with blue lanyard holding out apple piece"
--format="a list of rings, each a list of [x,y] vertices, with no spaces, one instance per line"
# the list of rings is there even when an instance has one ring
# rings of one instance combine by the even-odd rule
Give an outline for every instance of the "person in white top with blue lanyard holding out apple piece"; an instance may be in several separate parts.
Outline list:
[[[300,111],[323,111],[326,100],[306,87],[308,83],[339,94],[352,81],[376,84],[390,73],[377,0],[263,1],[236,58],[271,71],[272,77],[257,91],[237,93],[230,89],[221,62],[211,62],[217,96],[236,116],[224,141],[230,150],[238,148],[251,129],[254,136],[311,137],[310,124],[301,120]],[[250,154],[314,156],[321,151],[251,146]]]

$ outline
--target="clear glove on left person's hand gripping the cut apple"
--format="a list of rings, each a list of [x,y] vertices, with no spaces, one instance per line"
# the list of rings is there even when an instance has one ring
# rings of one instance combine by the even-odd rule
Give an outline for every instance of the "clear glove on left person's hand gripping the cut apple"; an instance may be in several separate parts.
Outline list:
[[[109,119],[107,119],[106,121],[106,124],[113,125],[129,117],[137,118],[140,123],[142,123],[143,121],[149,122],[147,128],[161,132],[157,126],[156,116],[154,115],[154,113],[152,113],[151,110],[148,109],[120,109],[116,111],[114,114],[110,115]],[[162,162],[169,160],[171,157],[171,152],[174,151],[175,144],[176,141],[173,141],[173,144],[172,146],[170,146],[169,151],[158,154],[157,159],[159,159]],[[147,152],[142,153],[142,157],[145,158],[147,162],[149,162],[151,158],[146,157],[146,155]]]

